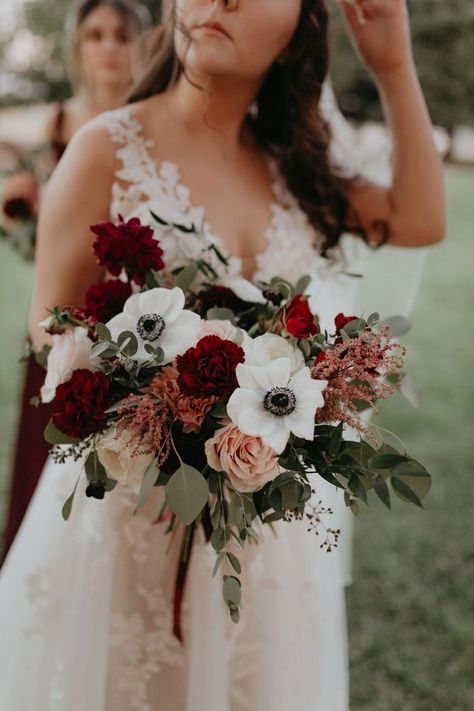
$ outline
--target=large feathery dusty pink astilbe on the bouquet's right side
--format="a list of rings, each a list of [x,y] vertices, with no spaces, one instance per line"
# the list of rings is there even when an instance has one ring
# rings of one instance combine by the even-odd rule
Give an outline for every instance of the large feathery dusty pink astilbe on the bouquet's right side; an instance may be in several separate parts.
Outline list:
[[[357,411],[357,401],[375,409],[398,387],[387,377],[402,376],[405,350],[388,338],[388,331],[368,332],[358,338],[338,343],[320,354],[311,369],[316,380],[327,380],[324,407],[318,410],[318,422],[341,421],[359,432],[368,429]]]

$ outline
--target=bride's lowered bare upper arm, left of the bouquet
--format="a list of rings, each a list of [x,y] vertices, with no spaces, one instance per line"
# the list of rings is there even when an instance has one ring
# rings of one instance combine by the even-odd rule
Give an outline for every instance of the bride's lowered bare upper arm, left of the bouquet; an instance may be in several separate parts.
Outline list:
[[[106,129],[91,122],[71,141],[46,188],[36,250],[30,336],[35,349],[47,336],[38,323],[54,306],[82,306],[101,277],[90,225],[109,217],[114,150]]]

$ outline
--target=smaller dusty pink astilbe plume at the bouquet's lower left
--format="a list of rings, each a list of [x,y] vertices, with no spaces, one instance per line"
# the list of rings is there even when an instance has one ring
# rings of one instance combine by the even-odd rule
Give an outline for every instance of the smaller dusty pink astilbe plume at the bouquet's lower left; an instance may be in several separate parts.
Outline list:
[[[127,432],[132,456],[156,452],[158,466],[163,464],[170,452],[172,419],[166,404],[150,395],[129,395],[117,412],[117,438]]]

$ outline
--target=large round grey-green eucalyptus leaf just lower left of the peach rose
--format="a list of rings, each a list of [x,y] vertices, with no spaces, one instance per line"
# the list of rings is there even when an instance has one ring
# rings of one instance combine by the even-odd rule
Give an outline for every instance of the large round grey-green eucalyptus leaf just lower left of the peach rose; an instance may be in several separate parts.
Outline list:
[[[200,471],[182,464],[166,485],[166,500],[171,511],[186,525],[199,516],[209,499],[209,487]]]

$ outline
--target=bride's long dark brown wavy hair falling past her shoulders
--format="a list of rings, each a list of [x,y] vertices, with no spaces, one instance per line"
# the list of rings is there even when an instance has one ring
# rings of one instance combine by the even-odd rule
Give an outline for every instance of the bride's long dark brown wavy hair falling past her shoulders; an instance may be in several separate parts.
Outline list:
[[[166,91],[186,71],[174,35],[176,0],[169,0],[150,44],[149,62],[130,101]],[[356,177],[330,165],[331,132],[319,104],[329,68],[329,15],[325,0],[302,0],[301,16],[280,61],[275,61],[255,99],[248,122],[260,146],[276,160],[310,223],[324,238],[324,253],[345,232],[367,240],[352,213],[347,191]],[[180,28],[181,29],[181,28]]]

